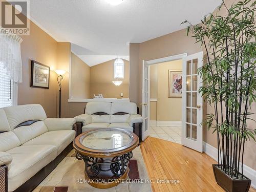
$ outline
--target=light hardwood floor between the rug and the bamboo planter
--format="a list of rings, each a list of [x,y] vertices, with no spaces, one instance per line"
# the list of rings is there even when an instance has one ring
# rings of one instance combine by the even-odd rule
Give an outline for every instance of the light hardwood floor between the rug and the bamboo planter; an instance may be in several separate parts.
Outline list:
[[[224,191],[212,173],[216,161],[208,155],[154,137],[141,142],[140,148],[150,179],[179,180],[177,184],[153,183],[153,191]],[[249,191],[256,192],[252,187]]]

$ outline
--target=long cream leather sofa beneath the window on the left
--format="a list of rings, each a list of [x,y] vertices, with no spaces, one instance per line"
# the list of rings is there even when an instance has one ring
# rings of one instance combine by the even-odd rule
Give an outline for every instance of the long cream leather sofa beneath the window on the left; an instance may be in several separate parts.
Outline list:
[[[41,177],[46,177],[56,166],[56,157],[59,161],[62,151],[72,146],[76,134],[72,130],[74,118],[47,118],[39,104],[0,109],[0,122],[0,168],[8,166],[8,191],[30,191],[23,184],[54,162],[43,169]],[[38,182],[30,185],[35,187]]]

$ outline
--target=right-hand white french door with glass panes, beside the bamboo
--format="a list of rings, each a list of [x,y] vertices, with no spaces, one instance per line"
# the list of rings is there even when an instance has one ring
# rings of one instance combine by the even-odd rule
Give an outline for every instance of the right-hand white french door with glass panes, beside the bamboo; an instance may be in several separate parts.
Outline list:
[[[182,134],[181,143],[193,150],[203,152],[203,98],[198,89],[202,79],[197,69],[202,66],[203,52],[183,58],[182,66]]]

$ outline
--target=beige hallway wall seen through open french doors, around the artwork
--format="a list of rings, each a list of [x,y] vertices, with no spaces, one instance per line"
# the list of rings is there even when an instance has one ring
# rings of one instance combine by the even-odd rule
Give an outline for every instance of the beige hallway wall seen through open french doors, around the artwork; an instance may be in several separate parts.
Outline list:
[[[157,120],[181,121],[181,97],[168,98],[168,70],[182,70],[182,60],[158,64]]]

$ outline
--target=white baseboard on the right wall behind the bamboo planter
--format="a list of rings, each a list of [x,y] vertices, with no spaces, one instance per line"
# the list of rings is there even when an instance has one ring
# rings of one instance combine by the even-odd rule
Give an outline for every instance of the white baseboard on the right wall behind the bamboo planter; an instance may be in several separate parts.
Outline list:
[[[203,152],[210,156],[212,159],[218,161],[218,150],[210,144],[203,142]],[[240,167],[242,163],[240,162]],[[251,186],[256,188],[256,170],[243,165],[243,174],[251,180]]]

